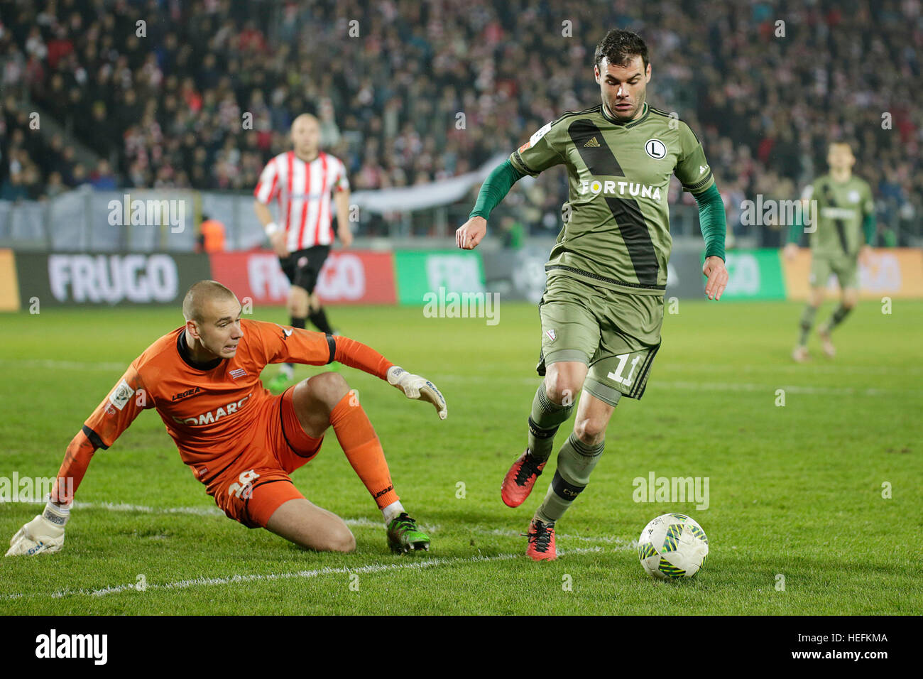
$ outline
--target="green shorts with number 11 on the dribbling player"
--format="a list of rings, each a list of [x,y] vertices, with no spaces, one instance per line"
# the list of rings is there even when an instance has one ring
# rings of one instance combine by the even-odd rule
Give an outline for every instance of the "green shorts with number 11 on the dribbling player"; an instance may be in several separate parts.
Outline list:
[[[558,274],[548,278],[538,310],[545,365],[585,363],[583,389],[610,406],[622,394],[641,398],[660,348],[663,296],[630,295]],[[541,363],[539,373],[545,374]]]

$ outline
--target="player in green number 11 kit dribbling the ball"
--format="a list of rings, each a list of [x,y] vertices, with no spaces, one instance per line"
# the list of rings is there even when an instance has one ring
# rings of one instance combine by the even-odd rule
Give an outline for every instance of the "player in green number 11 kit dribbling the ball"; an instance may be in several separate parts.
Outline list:
[[[647,46],[632,32],[610,30],[596,46],[593,76],[602,103],[535,132],[487,177],[468,222],[455,234],[460,248],[475,248],[490,211],[518,179],[567,166],[569,202],[545,264],[539,306],[538,372],[545,380],[533,399],[528,447],[501,491],[509,506],[525,501],[582,389],[573,432],[529,527],[526,553],[536,561],[556,558],[555,522],[587,485],[618,399],[644,393],[664,319],[672,245],[666,199],[673,174],[699,204],[705,292],[719,299],[727,285],[724,204],[689,126],[645,103]]]

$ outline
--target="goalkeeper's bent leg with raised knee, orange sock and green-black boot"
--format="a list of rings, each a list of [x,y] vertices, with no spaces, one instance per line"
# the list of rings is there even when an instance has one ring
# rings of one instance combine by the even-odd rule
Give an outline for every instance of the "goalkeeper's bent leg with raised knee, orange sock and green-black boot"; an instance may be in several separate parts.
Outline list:
[[[359,404],[358,394],[350,390],[342,375],[324,372],[299,382],[293,405],[308,436],[319,438],[333,427],[346,459],[384,516],[391,551],[428,550],[429,537],[404,511],[378,435]]]

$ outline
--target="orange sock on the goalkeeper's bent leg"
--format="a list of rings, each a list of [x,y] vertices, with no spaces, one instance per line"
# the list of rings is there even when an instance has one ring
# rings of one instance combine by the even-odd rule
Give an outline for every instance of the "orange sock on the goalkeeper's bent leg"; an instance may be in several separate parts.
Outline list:
[[[378,509],[384,509],[398,501],[398,494],[391,483],[391,473],[385,452],[381,449],[378,434],[368,421],[366,411],[359,405],[359,397],[350,392],[330,411],[330,425],[337,435],[337,441],[353,466],[355,473],[366,484],[366,488]]]

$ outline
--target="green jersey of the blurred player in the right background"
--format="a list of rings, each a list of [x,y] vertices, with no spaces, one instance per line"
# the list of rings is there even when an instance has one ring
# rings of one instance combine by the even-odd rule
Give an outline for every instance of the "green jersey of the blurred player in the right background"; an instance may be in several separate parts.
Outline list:
[[[869,183],[857,176],[836,182],[824,175],[805,187],[801,197],[811,200],[809,214],[817,220],[812,224],[815,230],[809,231],[811,252],[821,257],[855,257],[865,243],[863,219],[875,212]]]

